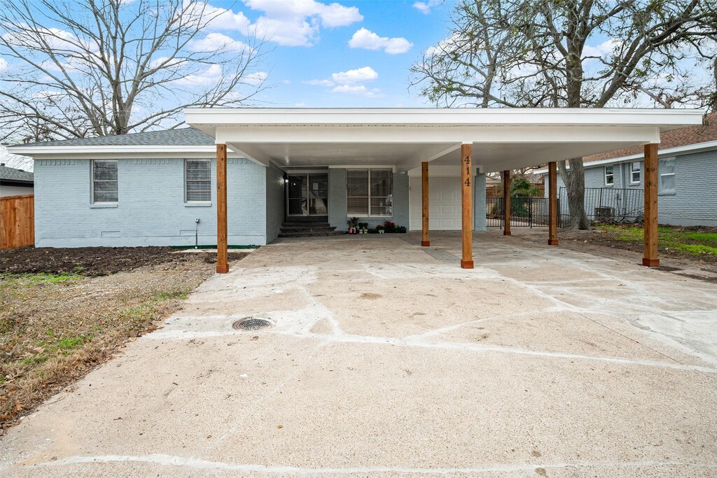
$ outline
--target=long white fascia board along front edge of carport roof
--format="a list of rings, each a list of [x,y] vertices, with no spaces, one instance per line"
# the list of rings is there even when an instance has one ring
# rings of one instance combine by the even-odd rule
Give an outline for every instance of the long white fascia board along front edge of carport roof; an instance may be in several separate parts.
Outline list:
[[[702,110],[621,108],[189,108],[200,130],[249,125],[641,125],[702,124]]]

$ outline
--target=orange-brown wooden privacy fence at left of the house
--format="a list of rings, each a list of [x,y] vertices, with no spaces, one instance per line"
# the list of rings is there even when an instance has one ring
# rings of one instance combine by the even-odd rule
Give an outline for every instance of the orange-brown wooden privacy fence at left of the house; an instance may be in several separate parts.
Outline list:
[[[0,198],[0,249],[35,243],[35,196]]]

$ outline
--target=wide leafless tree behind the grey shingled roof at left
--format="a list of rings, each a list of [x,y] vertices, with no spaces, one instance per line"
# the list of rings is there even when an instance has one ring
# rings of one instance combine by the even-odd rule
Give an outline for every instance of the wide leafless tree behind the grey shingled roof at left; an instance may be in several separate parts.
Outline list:
[[[242,105],[266,80],[262,42],[209,34],[226,14],[201,0],[0,0],[0,139],[176,128],[183,108]]]

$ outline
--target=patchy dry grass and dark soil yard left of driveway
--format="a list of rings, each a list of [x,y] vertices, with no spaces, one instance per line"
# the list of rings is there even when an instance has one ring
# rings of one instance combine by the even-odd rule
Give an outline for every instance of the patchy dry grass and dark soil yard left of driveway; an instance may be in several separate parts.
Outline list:
[[[214,254],[172,249],[3,251],[0,434],[24,413],[154,330],[214,272]],[[246,253],[230,252],[236,261]]]

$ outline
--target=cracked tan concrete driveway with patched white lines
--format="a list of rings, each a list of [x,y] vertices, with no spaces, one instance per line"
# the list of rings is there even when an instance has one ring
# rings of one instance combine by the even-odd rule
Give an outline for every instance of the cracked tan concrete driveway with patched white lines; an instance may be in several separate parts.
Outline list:
[[[475,239],[473,270],[448,233],[262,247],[11,429],[0,476],[717,474],[715,285]]]

